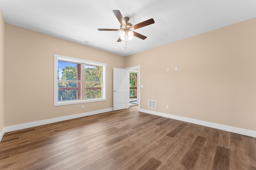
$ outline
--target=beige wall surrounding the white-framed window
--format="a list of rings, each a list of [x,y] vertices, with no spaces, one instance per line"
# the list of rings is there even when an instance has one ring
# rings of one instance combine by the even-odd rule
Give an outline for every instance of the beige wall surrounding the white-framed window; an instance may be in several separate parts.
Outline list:
[[[5,126],[112,108],[113,67],[124,57],[6,24]],[[107,101],[54,107],[53,54],[107,64]]]

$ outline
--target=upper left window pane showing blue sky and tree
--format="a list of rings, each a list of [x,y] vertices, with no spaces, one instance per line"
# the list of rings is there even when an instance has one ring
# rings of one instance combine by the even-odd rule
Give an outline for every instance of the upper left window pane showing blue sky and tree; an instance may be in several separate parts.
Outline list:
[[[58,80],[80,80],[77,68],[81,68],[81,64],[58,61]]]

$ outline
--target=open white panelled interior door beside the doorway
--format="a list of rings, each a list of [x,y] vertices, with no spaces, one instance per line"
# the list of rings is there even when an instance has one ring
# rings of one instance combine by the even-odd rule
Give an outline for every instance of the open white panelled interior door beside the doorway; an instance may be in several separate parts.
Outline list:
[[[128,103],[127,70],[113,69],[113,110],[127,109]]]

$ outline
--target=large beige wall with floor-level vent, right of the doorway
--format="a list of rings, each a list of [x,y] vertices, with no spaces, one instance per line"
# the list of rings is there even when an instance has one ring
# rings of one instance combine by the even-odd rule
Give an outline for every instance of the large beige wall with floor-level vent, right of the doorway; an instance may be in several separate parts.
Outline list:
[[[253,18],[126,57],[141,65],[141,108],[256,131],[255,28]]]

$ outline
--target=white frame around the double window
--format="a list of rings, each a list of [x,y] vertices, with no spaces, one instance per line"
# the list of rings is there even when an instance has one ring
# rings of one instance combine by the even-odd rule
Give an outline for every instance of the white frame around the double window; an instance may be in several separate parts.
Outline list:
[[[107,64],[99,63],[95,61],[88,61],[83,59],[76,59],[72,57],[67,57],[63,55],[53,55],[54,57],[54,106],[63,106],[69,104],[81,104],[81,103],[88,103],[88,102],[99,102],[105,101],[106,98],[106,71],[107,71]],[[84,63],[87,65],[94,65],[94,66],[102,66],[102,98],[98,99],[81,99],[81,100],[74,100],[74,101],[62,101],[58,102],[58,60],[67,61],[67,62],[74,62],[74,63]],[[82,82],[83,83],[83,82]]]

